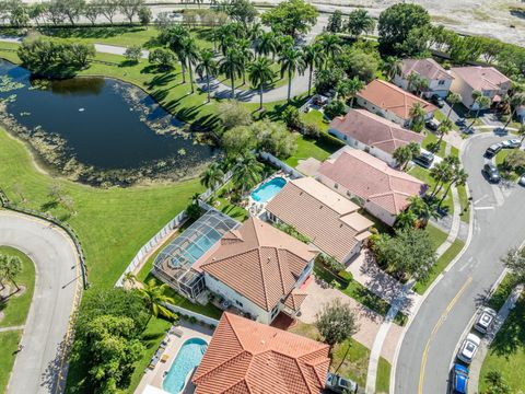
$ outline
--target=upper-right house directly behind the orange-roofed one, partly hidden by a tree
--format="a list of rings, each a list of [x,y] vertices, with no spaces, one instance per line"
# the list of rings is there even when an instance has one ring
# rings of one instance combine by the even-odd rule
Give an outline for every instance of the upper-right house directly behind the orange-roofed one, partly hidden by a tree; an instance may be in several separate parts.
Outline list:
[[[434,59],[404,59],[401,73],[394,77],[394,84],[409,91],[408,76],[412,72],[427,80],[429,88],[423,92],[425,97],[438,94],[440,97],[445,99],[454,80],[454,77]]]

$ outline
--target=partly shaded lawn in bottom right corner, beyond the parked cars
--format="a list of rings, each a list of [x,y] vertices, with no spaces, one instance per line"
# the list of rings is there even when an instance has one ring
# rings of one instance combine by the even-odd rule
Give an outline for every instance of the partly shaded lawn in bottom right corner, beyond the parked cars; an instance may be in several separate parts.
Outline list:
[[[479,390],[485,393],[485,378],[490,371],[501,373],[512,393],[525,391],[525,298],[516,303],[499,331],[481,367]]]

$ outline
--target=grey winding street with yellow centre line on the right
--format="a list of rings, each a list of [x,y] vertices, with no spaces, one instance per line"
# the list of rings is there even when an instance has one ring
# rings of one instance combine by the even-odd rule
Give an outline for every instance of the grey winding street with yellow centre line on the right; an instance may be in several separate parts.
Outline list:
[[[481,174],[493,135],[471,138],[463,153],[475,205],[472,240],[445,274],[409,326],[396,366],[395,393],[446,393],[456,345],[476,306],[500,276],[500,257],[525,239],[525,188],[494,186]]]

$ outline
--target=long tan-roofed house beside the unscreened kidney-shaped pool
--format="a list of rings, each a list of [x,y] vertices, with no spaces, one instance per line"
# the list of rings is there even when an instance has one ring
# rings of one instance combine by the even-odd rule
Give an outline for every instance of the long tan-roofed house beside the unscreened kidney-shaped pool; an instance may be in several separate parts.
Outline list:
[[[292,225],[324,253],[347,263],[374,224],[360,207],[312,177],[290,181],[266,207],[273,222]]]

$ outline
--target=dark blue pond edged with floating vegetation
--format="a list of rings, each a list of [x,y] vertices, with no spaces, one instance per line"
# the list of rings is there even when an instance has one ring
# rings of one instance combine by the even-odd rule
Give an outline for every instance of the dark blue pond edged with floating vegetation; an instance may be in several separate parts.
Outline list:
[[[7,76],[7,77],[5,77]],[[50,169],[91,184],[195,176],[220,150],[151,96],[104,78],[36,80],[0,60],[1,121]]]

